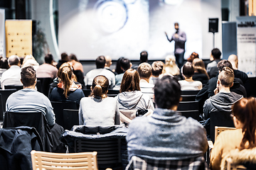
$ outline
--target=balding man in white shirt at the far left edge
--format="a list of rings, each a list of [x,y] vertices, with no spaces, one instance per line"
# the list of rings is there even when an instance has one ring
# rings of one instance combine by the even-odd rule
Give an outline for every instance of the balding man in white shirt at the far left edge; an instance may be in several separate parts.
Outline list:
[[[1,76],[1,88],[4,86],[22,86],[21,84],[21,62],[17,55],[11,55],[8,58],[10,68],[7,69]]]

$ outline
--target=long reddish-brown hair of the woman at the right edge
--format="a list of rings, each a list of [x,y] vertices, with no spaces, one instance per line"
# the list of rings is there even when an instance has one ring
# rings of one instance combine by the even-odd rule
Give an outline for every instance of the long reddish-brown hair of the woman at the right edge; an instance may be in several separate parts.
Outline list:
[[[256,101],[255,98],[242,98],[232,108],[233,115],[242,123],[242,142],[240,149],[256,147]]]

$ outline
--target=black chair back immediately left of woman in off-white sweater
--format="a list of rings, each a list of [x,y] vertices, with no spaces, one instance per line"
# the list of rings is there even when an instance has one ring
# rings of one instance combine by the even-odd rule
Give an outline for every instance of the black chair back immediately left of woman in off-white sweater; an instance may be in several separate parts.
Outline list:
[[[79,110],[63,109],[63,121],[65,130],[70,130],[73,125],[79,125]]]

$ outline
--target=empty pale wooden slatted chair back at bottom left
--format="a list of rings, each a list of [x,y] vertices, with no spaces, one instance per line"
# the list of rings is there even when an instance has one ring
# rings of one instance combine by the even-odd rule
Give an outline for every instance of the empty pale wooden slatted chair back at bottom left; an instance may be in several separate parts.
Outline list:
[[[97,170],[97,152],[56,154],[31,151],[33,170],[85,169]]]

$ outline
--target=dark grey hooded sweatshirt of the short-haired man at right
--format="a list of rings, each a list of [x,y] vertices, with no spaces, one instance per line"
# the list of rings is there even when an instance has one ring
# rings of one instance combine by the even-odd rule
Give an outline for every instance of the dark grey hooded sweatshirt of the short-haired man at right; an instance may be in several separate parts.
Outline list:
[[[235,92],[231,91],[230,93],[220,92],[208,98],[203,105],[205,120],[210,118],[210,112],[213,111],[231,112],[231,106],[242,97],[242,95],[235,94]]]

